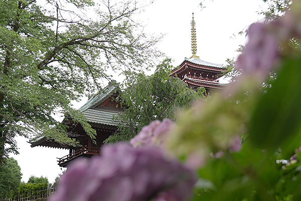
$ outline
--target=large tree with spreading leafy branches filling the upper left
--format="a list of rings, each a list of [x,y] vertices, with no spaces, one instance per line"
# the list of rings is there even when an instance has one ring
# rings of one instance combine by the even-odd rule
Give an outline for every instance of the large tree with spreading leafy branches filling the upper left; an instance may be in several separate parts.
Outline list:
[[[39,4],[40,3],[40,4]],[[60,112],[95,131],[71,101],[101,90],[107,69],[136,69],[152,64],[161,37],[148,37],[132,15],[137,1],[4,0],[0,2],[0,158],[18,153],[16,135],[45,135],[76,146]],[[70,9],[69,9],[70,8]],[[91,11],[95,11],[92,18]],[[89,12],[89,13],[88,13]]]

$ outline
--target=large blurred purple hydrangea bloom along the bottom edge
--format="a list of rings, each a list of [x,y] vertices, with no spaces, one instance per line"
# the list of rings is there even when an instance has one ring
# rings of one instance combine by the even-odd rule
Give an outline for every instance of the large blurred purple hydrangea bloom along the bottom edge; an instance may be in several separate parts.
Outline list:
[[[101,156],[72,163],[50,201],[185,200],[194,172],[158,147],[104,146]],[[156,199],[155,199],[156,200]]]

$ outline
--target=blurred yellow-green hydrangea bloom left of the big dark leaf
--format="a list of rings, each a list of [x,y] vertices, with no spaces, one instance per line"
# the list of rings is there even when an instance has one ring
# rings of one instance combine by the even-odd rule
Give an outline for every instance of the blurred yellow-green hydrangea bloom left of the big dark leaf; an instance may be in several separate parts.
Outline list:
[[[200,102],[182,114],[167,139],[167,146],[176,155],[184,156],[186,163],[194,168],[202,166],[210,153],[221,157],[222,152],[239,151],[251,106],[251,102],[237,104],[220,95],[212,96],[210,101]]]

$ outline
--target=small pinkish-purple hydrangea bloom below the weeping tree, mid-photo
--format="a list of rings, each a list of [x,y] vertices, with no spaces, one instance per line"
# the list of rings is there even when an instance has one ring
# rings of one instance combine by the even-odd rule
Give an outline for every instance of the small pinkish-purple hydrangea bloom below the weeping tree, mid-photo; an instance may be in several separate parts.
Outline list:
[[[161,146],[165,143],[169,132],[173,130],[175,125],[169,119],[164,119],[162,123],[159,120],[151,122],[149,125],[144,126],[139,134],[130,140],[130,144],[134,147],[145,145]]]

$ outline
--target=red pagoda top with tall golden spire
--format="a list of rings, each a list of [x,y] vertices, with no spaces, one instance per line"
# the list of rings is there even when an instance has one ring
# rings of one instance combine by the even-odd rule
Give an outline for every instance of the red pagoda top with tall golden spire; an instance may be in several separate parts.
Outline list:
[[[194,14],[192,14],[191,21],[191,50],[192,56],[185,57],[180,66],[170,73],[170,76],[179,77],[194,89],[202,86],[206,89],[207,94],[223,89],[226,84],[219,83],[218,78],[223,76],[227,69],[221,64],[203,61],[196,55],[197,36]]]

